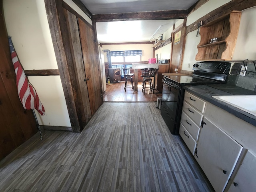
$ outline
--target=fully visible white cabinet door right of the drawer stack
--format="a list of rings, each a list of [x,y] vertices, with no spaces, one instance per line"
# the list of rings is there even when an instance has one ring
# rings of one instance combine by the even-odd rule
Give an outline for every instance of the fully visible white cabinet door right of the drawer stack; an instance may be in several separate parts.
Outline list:
[[[216,192],[224,190],[234,166],[242,151],[242,146],[204,118],[201,128],[196,160],[211,182]]]

